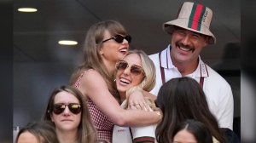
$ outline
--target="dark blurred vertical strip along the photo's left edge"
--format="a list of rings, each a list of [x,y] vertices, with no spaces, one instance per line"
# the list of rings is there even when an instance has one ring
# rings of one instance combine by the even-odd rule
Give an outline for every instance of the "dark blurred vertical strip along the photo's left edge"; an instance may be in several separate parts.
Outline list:
[[[0,1],[0,142],[13,137],[13,3]]]

